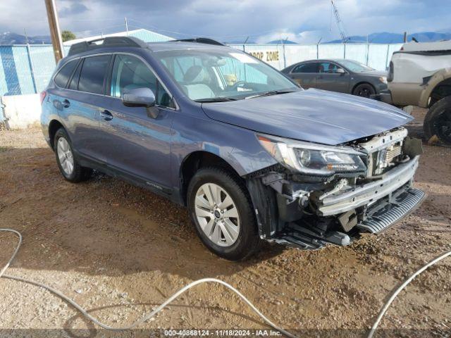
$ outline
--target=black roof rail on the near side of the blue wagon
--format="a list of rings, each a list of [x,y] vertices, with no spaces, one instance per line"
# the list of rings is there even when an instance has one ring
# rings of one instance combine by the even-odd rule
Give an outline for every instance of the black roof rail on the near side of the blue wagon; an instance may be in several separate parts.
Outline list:
[[[139,47],[148,48],[147,44],[137,37],[104,37],[91,41],[78,42],[70,46],[68,56],[104,47]]]

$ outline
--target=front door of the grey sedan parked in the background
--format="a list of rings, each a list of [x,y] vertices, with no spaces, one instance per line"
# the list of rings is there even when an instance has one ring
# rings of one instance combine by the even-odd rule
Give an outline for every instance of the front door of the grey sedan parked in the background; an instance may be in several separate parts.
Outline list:
[[[342,69],[345,73],[338,73]],[[340,65],[333,62],[320,62],[319,72],[316,75],[316,88],[330,90],[332,92],[349,92],[350,73],[344,70]]]

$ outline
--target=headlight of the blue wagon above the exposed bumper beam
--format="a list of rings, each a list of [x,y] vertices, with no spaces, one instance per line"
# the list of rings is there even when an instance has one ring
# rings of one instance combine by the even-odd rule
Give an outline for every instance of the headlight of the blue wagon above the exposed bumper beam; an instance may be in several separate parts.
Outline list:
[[[299,173],[333,175],[365,171],[364,153],[347,146],[323,146],[280,137],[257,135],[260,144],[278,162]]]

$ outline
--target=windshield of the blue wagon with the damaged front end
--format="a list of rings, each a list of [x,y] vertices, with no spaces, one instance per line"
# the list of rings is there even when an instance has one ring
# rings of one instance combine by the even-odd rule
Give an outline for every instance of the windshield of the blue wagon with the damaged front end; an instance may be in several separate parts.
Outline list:
[[[232,101],[302,90],[266,63],[231,48],[160,51],[154,56],[193,101]]]

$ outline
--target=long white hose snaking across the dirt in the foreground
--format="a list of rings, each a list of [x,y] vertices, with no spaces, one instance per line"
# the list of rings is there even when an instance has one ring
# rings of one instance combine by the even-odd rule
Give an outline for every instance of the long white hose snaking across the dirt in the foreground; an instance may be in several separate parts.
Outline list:
[[[23,277],[16,277],[16,276],[11,276],[11,275],[5,275],[5,271],[6,269],[8,269],[8,267],[11,265],[11,263],[13,262],[14,258],[16,257],[20,245],[22,244],[22,235],[20,234],[20,232],[16,231],[16,230],[12,230],[12,229],[0,229],[0,232],[4,231],[4,232],[12,232],[13,234],[16,234],[19,238],[19,242],[18,245],[16,247],[16,249],[13,252],[13,255],[11,256],[11,258],[9,259],[8,263],[6,263],[6,265],[4,266],[4,268],[2,268],[0,270],[0,278],[4,277],[4,278],[8,278],[10,280],[18,280],[20,282],[25,282],[28,284],[34,284],[38,287],[42,287],[44,289],[47,289],[49,292],[52,292],[53,294],[56,294],[56,296],[60,297],[61,299],[67,301],[68,303],[70,303],[74,308],[76,308],[78,311],[80,311],[80,313],[82,315],[85,316],[85,318],[89,319],[92,321],[92,323],[99,325],[99,327],[102,327],[106,330],[112,330],[112,331],[123,331],[123,330],[130,330],[133,329],[135,327],[137,327],[138,325],[146,322],[147,320],[149,320],[150,318],[153,318],[157,313],[159,313],[161,310],[163,310],[163,308],[165,308],[166,306],[169,305],[169,303],[171,303],[172,301],[174,301],[175,299],[178,298],[178,296],[180,296],[180,294],[183,294],[184,292],[186,292],[188,289],[191,289],[192,287],[196,286],[197,284],[202,284],[202,283],[218,283],[221,284],[225,287],[227,287],[228,289],[232,290],[233,292],[235,292],[235,294],[237,294],[238,296],[240,296],[240,298],[242,299],[242,301],[244,301],[245,303],[247,303],[247,305],[252,308],[252,310],[257,313],[257,315],[259,315],[259,317],[261,319],[264,320],[264,322],[266,324],[268,324],[269,326],[273,327],[274,330],[277,330],[278,332],[285,334],[285,336],[290,337],[290,338],[297,338],[295,335],[291,334],[288,331],[283,330],[282,328],[278,327],[276,324],[274,324],[273,322],[271,322],[271,320],[269,320],[268,318],[266,318],[266,316],[261,313],[255,306],[254,304],[252,304],[241,292],[239,292],[237,289],[235,289],[234,287],[232,287],[230,284],[223,282],[222,280],[216,280],[215,278],[203,278],[202,280],[195,280],[194,282],[191,282],[190,284],[187,284],[185,287],[183,287],[182,289],[178,290],[178,292],[175,292],[175,294],[173,294],[171,297],[169,297],[168,299],[166,299],[166,301],[164,301],[160,306],[158,306],[154,311],[152,311],[151,313],[149,313],[148,315],[144,315],[143,318],[141,318],[140,320],[137,320],[135,323],[132,323],[131,325],[128,325],[126,327],[112,327],[109,325],[106,325],[104,323],[99,322],[99,320],[97,320],[96,318],[94,318],[92,315],[90,315],[89,313],[87,313],[87,311],[82,308],[82,306],[80,306],[78,303],[75,303],[75,301],[73,301],[72,299],[70,299],[68,296],[66,296],[65,294],[63,294],[62,292],[59,292],[57,289],[54,289],[53,287],[49,287],[49,285],[46,284],[42,284],[40,282],[35,282],[34,280],[28,280],[27,278],[23,278]],[[398,287],[396,289],[396,291],[393,293],[393,295],[390,297],[390,299],[388,300],[387,303],[385,303],[385,306],[383,306],[381,312],[378,315],[378,318],[376,319],[376,322],[373,324],[373,327],[371,327],[371,331],[369,332],[368,338],[372,338],[374,332],[376,332],[376,329],[379,325],[379,323],[381,322],[383,315],[385,314],[385,312],[387,311],[388,307],[390,306],[390,304],[393,302],[393,300],[396,298],[396,296],[402,291],[402,289],[404,289],[404,287],[407,286],[407,284],[409,284],[410,282],[412,282],[412,280],[414,280],[414,278],[416,276],[418,276],[420,273],[422,273],[424,270],[426,270],[427,268],[431,267],[432,265],[434,265],[435,263],[438,263],[438,261],[441,261],[443,258],[446,258],[447,256],[451,256],[451,251],[448,251],[447,253],[444,253],[442,256],[433,259],[433,261],[427,263],[426,265],[424,265],[423,268],[419,269],[416,271],[416,273],[414,273],[412,276],[410,276],[404,283],[402,283],[402,285],[400,287]]]

